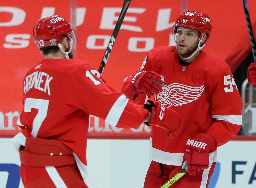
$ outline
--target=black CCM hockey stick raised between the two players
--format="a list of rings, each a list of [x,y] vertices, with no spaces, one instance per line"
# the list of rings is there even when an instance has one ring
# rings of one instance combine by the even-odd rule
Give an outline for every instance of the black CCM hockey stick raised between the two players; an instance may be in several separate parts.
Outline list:
[[[115,42],[115,39],[117,38],[117,34],[119,32],[119,29],[122,25],[122,22],[123,22],[123,19],[125,17],[125,14],[126,14],[126,11],[130,5],[130,2],[131,0],[124,0],[123,2],[123,7],[122,7],[122,10],[121,10],[121,13],[119,15],[119,18],[117,20],[117,24],[115,25],[115,28],[114,28],[114,31],[113,31],[113,34],[110,38],[110,41],[109,41],[109,44],[107,45],[107,49],[106,49],[106,52],[103,56],[103,59],[101,61],[101,65],[99,66],[99,69],[98,69],[98,72],[102,75],[102,72],[106,66],[106,63],[107,63],[107,59],[109,58],[109,55],[110,55],[110,52],[113,48],[113,45],[114,45],[114,42]]]

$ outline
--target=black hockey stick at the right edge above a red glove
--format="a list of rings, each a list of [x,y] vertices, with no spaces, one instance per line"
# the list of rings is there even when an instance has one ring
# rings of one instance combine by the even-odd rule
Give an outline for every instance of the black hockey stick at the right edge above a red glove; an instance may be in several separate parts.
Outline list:
[[[245,12],[245,19],[246,19],[247,29],[249,32],[249,37],[251,42],[251,49],[253,51],[253,59],[254,59],[254,62],[256,62],[256,43],[253,35],[253,29],[251,28],[251,20],[249,16],[249,8],[247,5],[247,0],[243,0],[243,10]]]

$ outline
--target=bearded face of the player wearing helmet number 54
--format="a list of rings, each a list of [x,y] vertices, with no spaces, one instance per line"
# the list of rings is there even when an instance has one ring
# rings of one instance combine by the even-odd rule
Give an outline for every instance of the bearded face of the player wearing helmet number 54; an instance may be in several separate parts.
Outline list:
[[[199,31],[178,27],[176,40],[179,55],[183,58],[189,57],[197,49],[199,43]]]

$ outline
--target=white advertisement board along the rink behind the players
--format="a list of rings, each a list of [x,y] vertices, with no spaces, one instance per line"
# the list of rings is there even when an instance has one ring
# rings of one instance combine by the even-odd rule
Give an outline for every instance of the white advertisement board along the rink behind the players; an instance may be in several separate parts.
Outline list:
[[[0,187],[22,188],[19,155],[9,140],[0,138]],[[149,140],[88,139],[87,146],[90,188],[143,187],[150,164]],[[256,187],[255,149],[256,140],[219,147],[209,188]]]

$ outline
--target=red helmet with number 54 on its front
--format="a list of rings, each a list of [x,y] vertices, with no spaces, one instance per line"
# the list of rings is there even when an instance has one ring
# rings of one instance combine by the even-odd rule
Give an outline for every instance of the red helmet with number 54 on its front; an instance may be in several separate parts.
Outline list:
[[[183,12],[182,15],[177,18],[177,21],[173,25],[172,34],[177,33],[178,26],[195,29],[200,32],[199,39],[204,39],[206,35],[206,40],[209,39],[210,32],[213,29],[211,27],[211,20],[207,14],[191,10]]]

